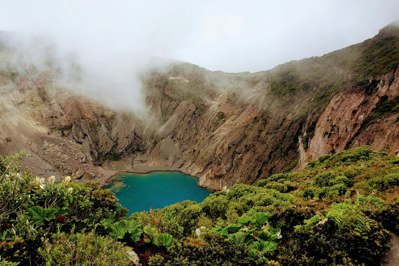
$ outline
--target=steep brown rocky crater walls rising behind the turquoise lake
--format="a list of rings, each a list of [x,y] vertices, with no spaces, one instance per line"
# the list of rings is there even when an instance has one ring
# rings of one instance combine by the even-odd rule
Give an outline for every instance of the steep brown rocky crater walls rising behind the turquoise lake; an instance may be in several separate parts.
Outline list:
[[[5,60],[0,151],[27,150],[35,174],[80,170],[85,180],[104,181],[113,172],[97,166],[178,169],[212,189],[303,169],[345,147],[396,154],[398,29],[389,25],[362,43],[258,73],[154,67],[142,75],[145,119]]]

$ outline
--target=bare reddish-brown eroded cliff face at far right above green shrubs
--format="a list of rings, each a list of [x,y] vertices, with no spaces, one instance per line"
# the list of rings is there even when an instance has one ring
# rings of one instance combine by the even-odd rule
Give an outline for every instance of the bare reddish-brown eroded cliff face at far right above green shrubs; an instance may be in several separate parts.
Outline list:
[[[378,85],[372,95],[356,89],[335,95],[318,119],[309,148],[302,156],[304,160],[300,160],[300,168],[319,156],[366,144],[375,150],[397,154],[397,112],[383,115],[364,130],[361,126],[367,117],[372,116],[375,104],[381,97],[386,95],[388,101],[399,95],[398,81],[399,69],[395,73],[377,77]]]

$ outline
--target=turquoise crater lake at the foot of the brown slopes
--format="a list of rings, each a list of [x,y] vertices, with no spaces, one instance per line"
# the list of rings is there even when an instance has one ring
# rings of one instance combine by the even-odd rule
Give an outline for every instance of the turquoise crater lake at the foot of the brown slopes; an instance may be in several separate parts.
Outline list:
[[[129,214],[149,211],[150,206],[152,209],[163,208],[186,199],[199,203],[213,192],[199,186],[196,177],[178,171],[118,173],[112,179],[121,180],[104,188],[117,195],[119,203],[129,209]]]

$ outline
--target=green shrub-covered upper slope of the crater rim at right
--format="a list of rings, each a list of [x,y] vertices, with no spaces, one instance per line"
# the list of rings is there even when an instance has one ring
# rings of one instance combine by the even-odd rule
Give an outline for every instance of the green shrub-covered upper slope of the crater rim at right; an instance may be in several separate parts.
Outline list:
[[[273,109],[273,102],[278,101],[285,108],[295,108],[300,116],[320,112],[338,92],[356,89],[373,93],[380,77],[399,67],[398,33],[397,26],[387,26],[362,43],[278,65],[269,71],[270,91],[264,108]],[[394,78],[392,75],[389,84]],[[302,99],[300,108],[287,105],[298,99]]]

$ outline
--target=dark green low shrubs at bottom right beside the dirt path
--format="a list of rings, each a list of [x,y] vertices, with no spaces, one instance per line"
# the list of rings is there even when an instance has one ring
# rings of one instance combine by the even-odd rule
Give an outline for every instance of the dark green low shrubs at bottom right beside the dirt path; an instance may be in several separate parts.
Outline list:
[[[290,235],[290,243],[277,256],[282,265],[333,265],[352,259],[354,264],[378,265],[389,250],[389,233],[370,222],[367,239],[356,234],[356,220],[338,225],[333,219]]]

